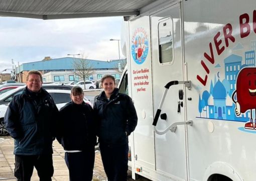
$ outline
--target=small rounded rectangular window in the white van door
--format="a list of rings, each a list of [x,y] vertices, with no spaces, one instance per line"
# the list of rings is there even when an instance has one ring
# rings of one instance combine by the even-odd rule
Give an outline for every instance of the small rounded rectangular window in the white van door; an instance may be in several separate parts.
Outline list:
[[[159,61],[173,61],[173,20],[171,17],[160,19],[158,23]]]

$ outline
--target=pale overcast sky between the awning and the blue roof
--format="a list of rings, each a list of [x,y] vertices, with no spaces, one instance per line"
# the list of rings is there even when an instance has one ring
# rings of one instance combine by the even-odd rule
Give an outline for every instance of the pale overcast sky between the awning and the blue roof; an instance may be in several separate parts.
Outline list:
[[[122,17],[42,20],[0,17],[0,71],[45,56],[82,53],[89,59],[118,59]],[[124,57],[121,54],[120,56]],[[77,57],[77,56],[76,56]]]

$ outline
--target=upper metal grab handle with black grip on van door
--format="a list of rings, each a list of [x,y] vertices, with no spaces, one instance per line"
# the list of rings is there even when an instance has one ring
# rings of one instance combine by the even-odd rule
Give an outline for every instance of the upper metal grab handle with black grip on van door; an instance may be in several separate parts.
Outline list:
[[[159,104],[159,107],[157,109],[157,112],[156,112],[156,115],[154,117],[154,121],[153,121],[153,125],[156,126],[157,125],[157,122],[158,122],[158,119],[159,119],[159,116],[160,116],[160,113],[161,113],[161,108],[163,106],[163,103],[164,103],[164,100],[165,100],[165,97],[166,97],[166,94],[167,94],[167,91],[169,89],[170,86],[172,85],[177,85],[177,84],[185,84],[186,87],[188,87],[190,89],[191,87],[191,81],[178,81],[178,80],[173,80],[173,81],[169,81],[166,85],[165,85],[165,91],[164,91],[164,94],[162,96],[162,99],[160,101],[160,104]]]

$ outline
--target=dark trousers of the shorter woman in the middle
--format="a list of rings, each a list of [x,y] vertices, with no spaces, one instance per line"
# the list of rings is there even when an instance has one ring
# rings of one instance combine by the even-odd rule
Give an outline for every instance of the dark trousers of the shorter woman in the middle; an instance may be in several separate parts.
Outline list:
[[[95,151],[94,146],[80,152],[65,152],[70,181],[91,181]]]

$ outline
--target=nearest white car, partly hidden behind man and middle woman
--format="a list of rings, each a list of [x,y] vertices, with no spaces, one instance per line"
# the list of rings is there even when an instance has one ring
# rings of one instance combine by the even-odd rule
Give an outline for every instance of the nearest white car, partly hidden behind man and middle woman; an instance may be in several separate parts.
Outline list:
[[[53,97],[58,109],[63,107],[67,102],[71,101],[71,98],[70,98],[71,90],[47,89],[47,91]],[[84,97],[83,100],[85,103],[88,103],[90,106],[92,106],[91,102],[86,97]],[[6,130],[5,123],[4,123],[4,116],[5,116],[7,107],[8,107],[8,103],[0,104],[0,136],[8,135],[8,131]]]

